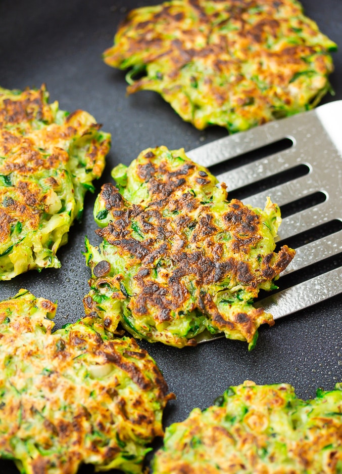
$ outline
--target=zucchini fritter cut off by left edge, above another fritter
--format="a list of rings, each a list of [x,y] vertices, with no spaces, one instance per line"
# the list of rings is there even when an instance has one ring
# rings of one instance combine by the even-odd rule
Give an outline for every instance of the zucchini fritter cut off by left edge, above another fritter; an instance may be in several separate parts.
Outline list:
[[[0,280],[61,266],[56,252],[104,169],[110,135],[100,127],[48,104],[44,86],[0,88]]]

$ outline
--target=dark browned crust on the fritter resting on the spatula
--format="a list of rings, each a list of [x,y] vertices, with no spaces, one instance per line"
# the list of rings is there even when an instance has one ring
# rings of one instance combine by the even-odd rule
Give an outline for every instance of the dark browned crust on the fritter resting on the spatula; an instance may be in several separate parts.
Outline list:
[[[145,155],[145,158],[153,156],[152,153]],[[169,171],[165,162],[156,168],[148,161],[137,166],[137,174],[141,181],[148,181],[151,199],[148,207],[131,205],[115,186],[106,184],[100,199],[113,219],[107,227],[96,231],[107,242],[115,245],[116,251],[127,258],[130,265],[141,266],[133,276],[139,291],[130,295],[128,304],[134,317],[153,315],[158,323],[171,321],[178,317],[178,311],[187,302],[187,311],[198,309],[210,315],[213,326],[220,331],[224,328],[239,328],[250,341],[256,330],[255,321],[261,321],[263,310],[251,309],[250,314],[239,312],[232,320],[225,320],[205,287],[220,283],[229,276],[230,281],[234,282],[231,286],[241,284],[257,295],[258,285],[284,270],[294,256],[294,250],[283,246],[278,254],[269,253],[257,269],[253,268],[251,262],[243,262],[243,255],[247,255],[251,247],[262,239],[258,214],[233,199],[227,203],[223,215],[225,227],[217,227],[210,204],[201,204],[197,197],[188,192],[189,180],[203,187],[210,183],[204,176],[206,173],[198,172],[192,162]],[[164,217],[165,208],[178,211],[179,214]],[[190,212],[196,212],[195,217]],[[132,221],[136,222],[142,240],[134,236]],[[181,232],[185,228],[192,229],[188,239]],[[224,254],[224,246],[217,241],[222,231],[229,232],[232,237],[229,242],[230,256]],[[165,280],[162,283],[156,281],[151,273],[160,258],[164,262],[169,261],[170,268],[173,267],[164,273]],[[108,268],[106,272],[109,273]],[[186,287],[188,281],[195,287],[194,303],[189,299]],[[94,285],[97,283],[92,282]],[[119,281],[116,288],[120,290]],[[265,322],[273,324],[270,318]]]

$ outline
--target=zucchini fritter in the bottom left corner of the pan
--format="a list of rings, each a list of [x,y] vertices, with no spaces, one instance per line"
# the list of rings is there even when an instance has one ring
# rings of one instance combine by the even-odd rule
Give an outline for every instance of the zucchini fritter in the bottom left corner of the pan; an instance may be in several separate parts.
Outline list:
[[[55,311],[27,290],[0,302],[0,457],[22,474],[140,473],[173,394],[134,339],[88,318],[52,333]]]

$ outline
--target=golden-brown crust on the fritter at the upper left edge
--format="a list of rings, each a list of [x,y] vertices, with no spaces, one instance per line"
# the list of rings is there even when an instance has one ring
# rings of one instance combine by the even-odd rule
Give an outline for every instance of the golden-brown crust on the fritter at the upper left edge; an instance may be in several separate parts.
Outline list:
[[[28,223],[32,230],[37,230],[46,204],[46,189],[35,183],[40,171],[57,170],[56,179],[51,176],[44,180],[44,186],[56,189],[61,180],[66,178],[65,167],[69,161],[68,152],[62,149],[60,142],[76,137],[82,111],[76,110],[59,125],[53,123],[51,106],[44,99],[45,87],[38,90],[27,90],[19,96],[1,100],[0,96],[0,156],[6,159],[0,165],[0,175],[14,177],[11,188],[0,189],[0,243],[9,240],[11,223],[20,221]],[[44,120],[45,127],[39,130],[32,128],[33,120]],[[20,125],[23,130],[15,128]],[[92,130],[99,130],[100,124],[92,124]],[[26,134],[25,130],[30,133]],[[39,144],[44,148],[40,148]],[[87,167],[92,169],[95,177],[100,177],[103,165],[99,156],[108,152],[108,140],[100,143],[93,140],[86,154]],[[59,182],[58,182],[58,181]],[[11,197],[8,197],[9,189]]]

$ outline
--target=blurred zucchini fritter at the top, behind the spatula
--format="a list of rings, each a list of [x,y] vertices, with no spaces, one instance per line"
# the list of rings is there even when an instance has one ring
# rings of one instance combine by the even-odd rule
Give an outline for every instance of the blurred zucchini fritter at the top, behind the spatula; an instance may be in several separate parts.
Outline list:
[[[158,92],[197,128],[237,132],[314,107],[334,50],[297,0],[172,0],[131,11],[104,60],[131,69],[128,94]]]

